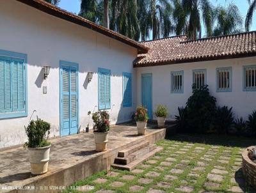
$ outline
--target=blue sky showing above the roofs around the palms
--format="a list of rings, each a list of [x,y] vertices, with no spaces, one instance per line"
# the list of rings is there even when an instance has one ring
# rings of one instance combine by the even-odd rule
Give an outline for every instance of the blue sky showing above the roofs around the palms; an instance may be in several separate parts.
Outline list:
[[[60,8],[63,8],[64,10],[67,10],[68,12],[72,13],[79,13],[80,10],[80,2],[81,0],[61,0],[59,6]],[[234,3],[239,8],[241,15],[243,16],[244,20],[246,17],[246,13],[249,7],[247,0],[211,0],[212,4],[217,5],[228,5],[228,3]],[[253,25],[251,27],[252,31],[256,31],[256,12],[253,15]]]

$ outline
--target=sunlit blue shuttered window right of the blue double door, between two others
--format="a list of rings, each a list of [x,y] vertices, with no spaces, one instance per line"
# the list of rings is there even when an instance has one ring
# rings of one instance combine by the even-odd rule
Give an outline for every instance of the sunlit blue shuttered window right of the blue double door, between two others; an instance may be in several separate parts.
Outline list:
[[[99,110],[110,109],[110,75],[110,70],[99,68]]]

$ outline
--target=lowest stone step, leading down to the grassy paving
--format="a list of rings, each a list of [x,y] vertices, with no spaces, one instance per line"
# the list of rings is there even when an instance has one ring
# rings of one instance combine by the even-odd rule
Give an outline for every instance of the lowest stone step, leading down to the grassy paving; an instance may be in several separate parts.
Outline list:
[[[127,165],[112,164],[111,166],[114,169],[131,171],[132,169],[134,169],[134,167],[138,166],[139,164],[141,164],[145,160],[148,160],[150,157],[154,156],[156,153],[158,153],[161,150],[163,150],[163,148],[157,146],[153,151],[148,152],[147,154],[143,155],[142,157],[134,160],[133,162],[131,162]]]

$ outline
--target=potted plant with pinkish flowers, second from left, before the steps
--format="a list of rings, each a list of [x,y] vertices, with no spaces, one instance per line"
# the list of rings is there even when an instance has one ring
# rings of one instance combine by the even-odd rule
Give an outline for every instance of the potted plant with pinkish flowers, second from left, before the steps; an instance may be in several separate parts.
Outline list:
[[[92,114],[93,134],[96,151],[106,151],[109,131],[109,114],[107,111],[98,111]]]

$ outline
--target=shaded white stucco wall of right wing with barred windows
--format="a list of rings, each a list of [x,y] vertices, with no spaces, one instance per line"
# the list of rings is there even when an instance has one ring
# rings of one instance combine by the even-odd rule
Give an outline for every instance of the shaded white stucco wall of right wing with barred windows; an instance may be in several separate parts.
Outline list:
[[[256,92],[243,91],[243,66],[255,64],[256,57],[136,68],[138,104],[141,104],[141,73],[152,73],[153,111],[157,104],[164,104],[170,112],[168,119],[173,119],[178,114],[178,107],[185,107],[191,96],[193,70],[207,69],[207,84],[211,95],[216,97],[217,105],[233,107],[236,118],[247,118],[256,110]],[[216,92],[216,68],[228,66],[232,66],[232,92]],[[171,72],[179,70],[184,70],[184,93],[171,93]]]

